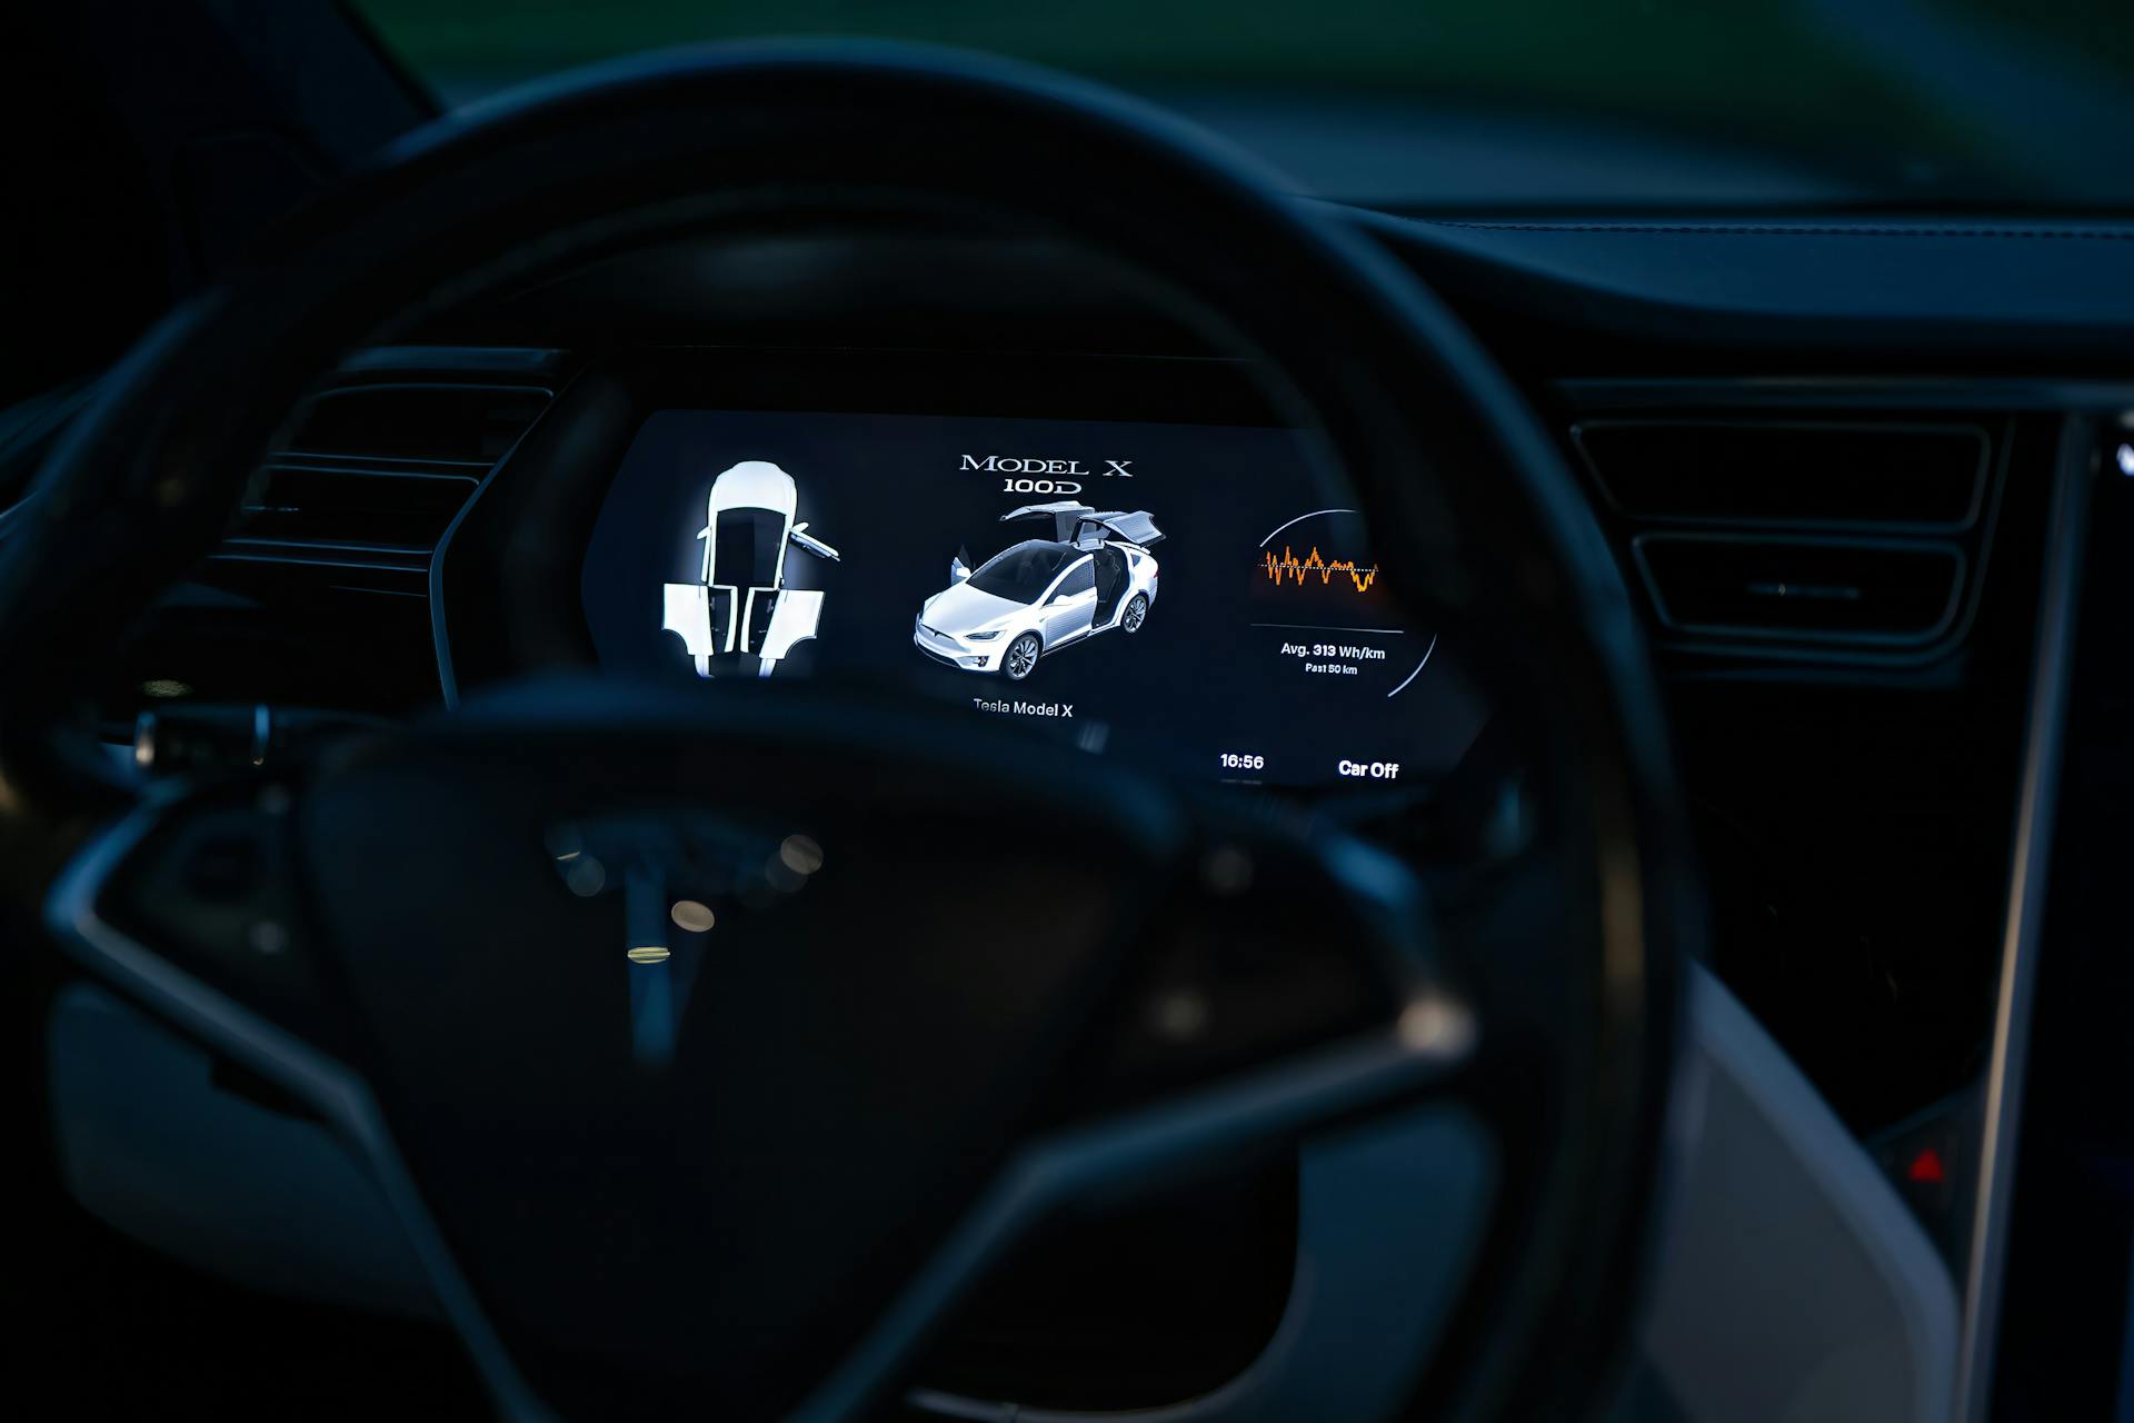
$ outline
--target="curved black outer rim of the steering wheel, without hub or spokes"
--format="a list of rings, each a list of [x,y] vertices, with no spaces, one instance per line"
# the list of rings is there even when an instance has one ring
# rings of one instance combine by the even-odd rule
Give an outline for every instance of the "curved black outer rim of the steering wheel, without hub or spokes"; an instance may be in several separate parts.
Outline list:
[[[854,151],[796,162],[807,143],[849,130],[862,113],[875,132],[854,137]],[[137,348],[55,450],[30,527],[0,544],[0,666],[19,672],[0,689],[0,787],[9,787],[0,811],[17,832],[64,845],[68,834],[55,828],[83,826],[124,804],[128,794],[100,772],[100,755],[66,717],[83,691],[73,649],[115,638],[149,593],[207,553],[239,501],[252,457],[297,403],[307,373],[369,331],[380,297],[455,290],[480,265],[474,254],[493,267],[504,222],[540,213],[548,230],[576,228],[583,241],[587,226],[598,228],[617,209],[685,201],[676,175],[687,164],[717,158],[732,181],[775,179],[798,190],[800,177],[824,177],[822,164],[851,179],[866,158],[898,143],[973,124],[990,126],[994,151],[1022,145],[1076,158],[994,181],[945,173],[939,160],[911,149],[888,164],[888,181],[924,181],[958,198],[975,188],[1001,207],[1035,211],[1093,245],[1122,250],[1167,279],[1182,277],[1201,297],[1236,299],[1253,275],[1295,277],[1315,294],[1315,309],[1276,303],[1255,311],[1246,337],[1280,369],[1302,371],[1297,399],[1327,433],[1359,506],[1379,527],[1408,535],[1415,567],[1443,574],[1432,597],[1477,599],[1475,585],[1485,582],[1490,597],[1517,608],[1507,621],[1524,625],[1530,644],[1507,655],[1547,666],[1583,779],[1600,945],[1588,1090],[1615,1097],[1573,1114],[1590,1139],[1573,1154],[1577,1165],[1564,1169],[1592,1171],[1590,1195],[1598,1199],[1581,1205],[1575,1186],[1554,1186],[1547,1235],[1579,1235],[1586,1269],[1594,1259],[1635,1265],[1639,1227],[1650,1218],[1639,1197],[1656,1173],[1673,1041],[1671,975],[1692,947],[1697,920],[1658,698],[1620,576],[1524,401],[1455,318],[1385,254],[1278,196],[1251,164],[1199,134],[1048,75],[877,47],[640,62],[544,85],[472,126],[440,126],[312,211],[271,252]],[[736,134],[762,151],[736,162]],[[627,175],[589,173],[602,143],[619,137],[644,141],[638,166]],[[883,179],[879,169],[864,175]],[[1084,192],[1103,201],[1076,207],[1061,196],[1071,188],[1067,179],[1095,183]],[[632,196],[617,203],[617,192]],[[1195,218],[1161,241],[1135,241],[1135,201],[1165,192],[1193,198]],[[1208,235],[1221,230],[1238,235],[1238,243],[1216,271],[1189,271],[1182,254],[1206,252]],[[642,233],[615,237],[640,241]],[[1300,356],[1310,358],[1300,365]],[[1413,454],[1421,448],[1434,450],[1440,467],[1460,467],[1462,478],[1415,480]],[[1430,503],[1432,493],[1445,493],[1458,516]],[[1426,538],[1432,529],[1487,529],[1496,548],[1511,550],[1507,567],[1477,578],[1443,540]],[[77,862],[53,913],[64,932],[79,934],[96,920],[96,892],[128,843],[105,838]],[[45,864],[51,868],[53,858]],[[32,875],[30,888],[43,881]],[[109,943],[77,943],[100,973],[113,975]],[[139,981],[130,988],[143,992]],[[169,1001],[158,1005],[171,1011]],[[1526,1269],[1532,1274],[1532,1263]],[[1539,1272],[1551,1274],[1562,1267]],[[1522,1284],[1519,1308],[1496,1312],[1496,1346],[1440,1402],[1524,1406],[1539,1395],[1517,1363],[1536,1348],[1594,1368],[1613,1353],[1620,1323],[1607,1321],[1611,1310],[1622,1312],[1620,1280],[1564,1289],[1558,1278],[1554,1295],[1539,1282]],[[1509,1327],[1507,1314],[1524,1318]]]

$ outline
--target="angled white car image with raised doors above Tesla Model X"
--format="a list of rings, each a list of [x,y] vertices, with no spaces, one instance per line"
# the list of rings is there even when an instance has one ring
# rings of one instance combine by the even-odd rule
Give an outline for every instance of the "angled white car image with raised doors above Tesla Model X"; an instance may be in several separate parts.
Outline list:
[[[1157,602],[1148,546],[1163,540],[1146,510],[1063,501],[1001,514],[1001,523],[1016,518],[1050,518],[1052,538],[1003,548],[977,570],[952,559],[950,587],[926,599],[911,627],[922,653],[1020,683],[1054,649],[1112,627],[1142,629]]]

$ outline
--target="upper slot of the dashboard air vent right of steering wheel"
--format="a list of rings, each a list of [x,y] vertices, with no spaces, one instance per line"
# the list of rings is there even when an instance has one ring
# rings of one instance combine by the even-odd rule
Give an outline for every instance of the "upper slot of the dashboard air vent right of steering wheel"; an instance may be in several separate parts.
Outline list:
[[[1974,425],[1588,420],[1571,431],[1618,512],[1667,523],[1957,531],[1985,503]]]

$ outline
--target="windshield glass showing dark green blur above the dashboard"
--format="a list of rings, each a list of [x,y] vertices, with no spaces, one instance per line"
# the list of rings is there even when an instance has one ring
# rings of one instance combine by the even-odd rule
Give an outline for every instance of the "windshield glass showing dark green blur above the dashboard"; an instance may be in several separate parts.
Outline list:
[[[2125,0],[356,0],[448,105],[755,36],[986,49],[1413,209],[2130,207]]]

